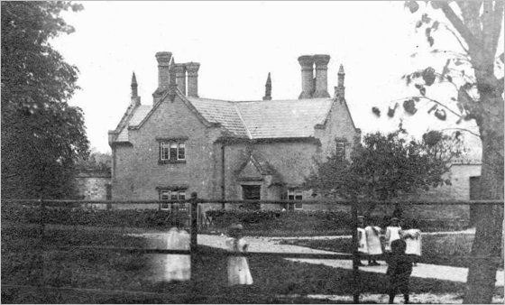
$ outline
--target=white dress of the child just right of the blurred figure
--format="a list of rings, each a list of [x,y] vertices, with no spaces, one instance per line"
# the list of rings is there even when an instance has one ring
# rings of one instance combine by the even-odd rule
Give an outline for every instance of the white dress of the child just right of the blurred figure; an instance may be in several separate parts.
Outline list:
[[[236,242],[235,242],[236,241]],[[243,246],[245,241],[243,238],[236,240],[228,238],[226,240],[226,248],[231,252],[244,252]],[[228,256],[228,284],[229,285],[251,285],[253,277],[249,271],[249,264],[246,257]]]

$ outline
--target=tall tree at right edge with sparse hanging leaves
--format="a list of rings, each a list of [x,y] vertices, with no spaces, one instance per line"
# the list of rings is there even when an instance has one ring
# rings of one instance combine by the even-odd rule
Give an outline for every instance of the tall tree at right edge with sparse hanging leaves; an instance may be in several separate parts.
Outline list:
[[[406,2],[411,13],[420,14],[416,24],[424,29],[432,52],[445,56],[443,67],[416,71],[406,76],[408,84],[418,88],[421,97],[404,102],[407,112],[415,112],[415,104],[427,101],[433,105],[433,114],[441,120],[447,113],[456,116],[456,123],[475,122],[477,136],[482,141],[482,173],[480,199],[503,200],[503,60],[498,54],[500,34],[503,31],[502,1],[431,1],[423,12],[419,3]],[[433,18],[441,12],[445,20]],[[447,23],[448,21],[448,23]],[[441,31],[452,33],[459,50],[438,50],[436,36]],[[503,42],[501,42],[503,43]],[[441,83],[452,85],[454,93],[445,97],[427,97],[430,88]],[[436,109],[437,108],[437,109]],[[491,303],[500,256],[503,207],[482,205],[476,207],[476,232],[464,297],[465,303]]]

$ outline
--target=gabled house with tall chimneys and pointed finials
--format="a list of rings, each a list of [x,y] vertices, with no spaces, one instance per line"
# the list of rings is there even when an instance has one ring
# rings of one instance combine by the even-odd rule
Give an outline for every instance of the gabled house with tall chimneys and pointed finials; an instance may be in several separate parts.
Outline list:
[[[349,157],[361,134],[342,65],[335,93],[327,91],[329,55],[298,58],[302,88],[290,100],[272,99],[270,74],[261,100],[199,97],[199,63],[176,63],[166,51],[156,59],[152,105],[142,105],[133,74],[131,102],[108,133],[113,199],[186,199],[196,191],[202,199],[302,199],[261,208],[308,208],[303,199],[314,195],[299,186],[315,161],[332,152]]]

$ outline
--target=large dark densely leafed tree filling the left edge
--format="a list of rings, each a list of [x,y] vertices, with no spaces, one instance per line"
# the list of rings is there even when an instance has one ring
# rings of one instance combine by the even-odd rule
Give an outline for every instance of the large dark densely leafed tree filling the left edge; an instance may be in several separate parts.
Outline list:
[[[72,193],[73,167],[88,152],[82,111],[69,106],[78,69],[50,45],[74,29],[68,2],[3,1],[2,197],[61,198]]]

